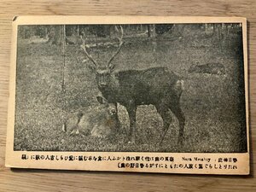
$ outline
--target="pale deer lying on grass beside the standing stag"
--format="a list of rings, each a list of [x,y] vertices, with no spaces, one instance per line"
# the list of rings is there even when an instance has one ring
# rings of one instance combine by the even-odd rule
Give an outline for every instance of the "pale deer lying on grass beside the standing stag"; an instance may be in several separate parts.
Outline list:
[[[108,137],[119,128],[116,103],[109,103],[102,96],[96,97],[98,108],[73,113],[62,125],[67,135],[84,134],[92,137]]]

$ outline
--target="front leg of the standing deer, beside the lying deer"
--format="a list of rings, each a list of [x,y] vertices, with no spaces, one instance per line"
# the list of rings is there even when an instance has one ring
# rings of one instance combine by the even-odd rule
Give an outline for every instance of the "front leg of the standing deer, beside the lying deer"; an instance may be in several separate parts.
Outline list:
[[[130,131],[129,131],[129,142],[135,143],[135,130],[136,130],[136,110],[135,105],[126,107],[130,119]]]

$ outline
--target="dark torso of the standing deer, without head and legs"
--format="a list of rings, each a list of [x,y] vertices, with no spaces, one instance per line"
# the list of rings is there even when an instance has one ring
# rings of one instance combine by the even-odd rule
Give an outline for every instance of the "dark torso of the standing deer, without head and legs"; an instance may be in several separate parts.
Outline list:
[[[115,98],[121,104],[133,101],[137,105],[154,104],[166,94],[172,94],[173,85],[179,79],[166,67],[153,67],[146,70],[127,70],[116,73],[119,87],[116,90],[102,91],[103,95]]]

